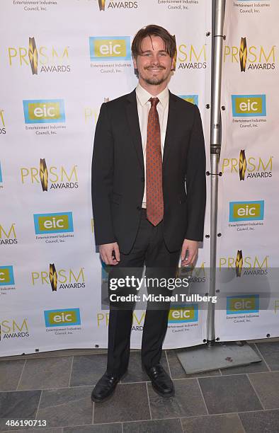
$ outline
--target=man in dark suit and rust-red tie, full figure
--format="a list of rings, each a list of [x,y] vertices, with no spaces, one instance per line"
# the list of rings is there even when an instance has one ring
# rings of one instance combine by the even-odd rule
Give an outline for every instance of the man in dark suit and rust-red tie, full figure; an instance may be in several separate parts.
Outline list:
[[[111,274],[121,267],[141,275],[145,265],[146,276],[174,277],[180,253],[181,265],[192,265],[203,241],[203,127],[198,108],[167,88],[175,54],[175,38],[167,30],[157,25],[139,30],[132,42],[137,88],[101,106],[93,149],[93,217],[96,245]],[[93,389],[95,402],[106,400],[127,371],[132,308],[110,302],[108,364]],[[159,364],[168,315],[168,302],[148,303],[142,333],[142,365],[154,390],[166,397],[174,394]]]

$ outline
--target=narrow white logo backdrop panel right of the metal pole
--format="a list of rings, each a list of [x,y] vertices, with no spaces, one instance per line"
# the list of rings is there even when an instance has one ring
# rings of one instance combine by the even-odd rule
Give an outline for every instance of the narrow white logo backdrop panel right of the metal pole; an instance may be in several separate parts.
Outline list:
[[[217,248],[220,340],[279,334],[278,18],[278,1],[227,1]]]

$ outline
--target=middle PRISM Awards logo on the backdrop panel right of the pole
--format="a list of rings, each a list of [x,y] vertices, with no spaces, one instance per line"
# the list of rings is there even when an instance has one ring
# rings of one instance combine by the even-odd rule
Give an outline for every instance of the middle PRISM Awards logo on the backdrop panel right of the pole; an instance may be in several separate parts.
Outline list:
[[[224,158],[222,161],[222,173],[235,173],[239,180],[272,178],[273,156],[261,158],[261,156],[246,157],[245,149],[241,149],[239,158]]]

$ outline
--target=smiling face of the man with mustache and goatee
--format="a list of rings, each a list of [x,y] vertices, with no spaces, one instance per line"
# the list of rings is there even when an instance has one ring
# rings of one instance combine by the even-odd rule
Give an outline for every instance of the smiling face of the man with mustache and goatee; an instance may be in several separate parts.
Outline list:
[[[142,40],[142,53],[134,59],[134,67],[139,74],[139,83],[153,86],[168,81],[173,67],[173,59],[166,52],[164,40],[159,36],[147,36]]]

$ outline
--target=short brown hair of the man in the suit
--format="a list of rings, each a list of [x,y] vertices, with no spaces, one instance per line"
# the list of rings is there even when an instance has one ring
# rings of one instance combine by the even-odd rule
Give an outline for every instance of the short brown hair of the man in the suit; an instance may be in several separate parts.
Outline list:
[[[168,32],[164,27],[155,24],[149,24],[144,28],[141,28],[132,41],[132,56],[142,54],[142,40],[144,37],[159,36],[164,40],[165,50],[173,59],[176,54],[176,38]]]

